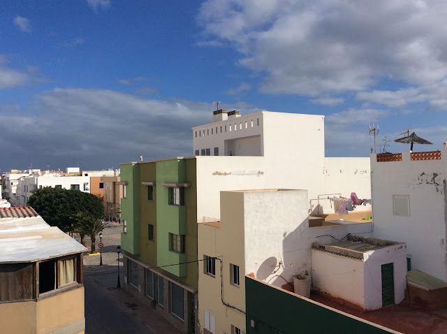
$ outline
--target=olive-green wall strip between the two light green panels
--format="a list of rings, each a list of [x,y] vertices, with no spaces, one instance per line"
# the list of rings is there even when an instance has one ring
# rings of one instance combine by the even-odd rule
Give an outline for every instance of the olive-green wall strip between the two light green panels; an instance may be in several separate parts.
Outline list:
[[[156,266],[156,187],[154,187],[154,200],[147,198],[148,187],[141,182],[156,182],[156,162],[139,163],[140,166],[140,260],[149,266]],[[149,240],[148,224],[154,225],[154,240]]]

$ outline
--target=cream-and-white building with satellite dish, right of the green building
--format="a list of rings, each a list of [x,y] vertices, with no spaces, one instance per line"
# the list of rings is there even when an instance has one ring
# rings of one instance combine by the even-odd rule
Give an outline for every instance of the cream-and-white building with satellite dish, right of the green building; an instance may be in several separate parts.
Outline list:
[[[245,275],[281,287],[311,273],[312,242],[371,235],[370,221],[309,227],[307,205],[306,190],[221,191],[220,222],[198,224],[198,259],[205,260],[198,319],[206,333],[245,332]]]

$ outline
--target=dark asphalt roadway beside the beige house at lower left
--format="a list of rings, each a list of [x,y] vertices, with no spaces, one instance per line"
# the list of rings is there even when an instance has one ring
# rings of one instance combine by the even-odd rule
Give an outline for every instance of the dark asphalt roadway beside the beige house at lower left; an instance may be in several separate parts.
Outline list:
[[[84,277],[86,334],[154,334],[132,316],[131,309],[111,298],[91,277]]]

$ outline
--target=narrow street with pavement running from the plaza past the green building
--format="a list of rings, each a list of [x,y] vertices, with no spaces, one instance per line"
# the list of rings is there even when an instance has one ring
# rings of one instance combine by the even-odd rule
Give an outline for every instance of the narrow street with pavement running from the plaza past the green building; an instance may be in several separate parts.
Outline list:
[[[99,265],[100,254],[84,254],[85,333],[179,333],[152,308],[142,305],[140,301],[124,291],[122,254],[119,255],[121,288],[117,289],[117,246],[121,244],[121,232],[122,225],[115,223],[108,224],[103,231],[103,266]],[[85,242],[88,247],[91,247],[90,238],[86,237]],[[96,236],[97,252],[99,242],[99,237]]]

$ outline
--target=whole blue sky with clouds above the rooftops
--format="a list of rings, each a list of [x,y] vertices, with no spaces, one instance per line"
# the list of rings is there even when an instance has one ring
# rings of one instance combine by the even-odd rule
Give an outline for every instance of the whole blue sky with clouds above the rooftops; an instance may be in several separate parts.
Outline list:
[[[213,101],[325,115],[329,157],[368,124],[447,140],[446,1],[3,1],[0,168],[192,155]],[[312,143],[309,143],[312,145]]]

